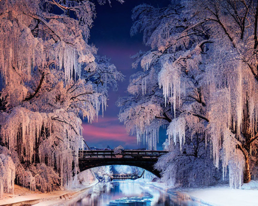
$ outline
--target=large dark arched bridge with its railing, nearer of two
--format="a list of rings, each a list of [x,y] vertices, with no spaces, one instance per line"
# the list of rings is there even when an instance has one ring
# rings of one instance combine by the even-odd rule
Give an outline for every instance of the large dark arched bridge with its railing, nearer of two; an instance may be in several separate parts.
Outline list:
[[[154,169],[158,157],[168,153],[159,150],[122,150],[114,154],[114,150],[79,150],[80,171],[106,165],[129,165],[150,171],[160,178],[160,171]]]

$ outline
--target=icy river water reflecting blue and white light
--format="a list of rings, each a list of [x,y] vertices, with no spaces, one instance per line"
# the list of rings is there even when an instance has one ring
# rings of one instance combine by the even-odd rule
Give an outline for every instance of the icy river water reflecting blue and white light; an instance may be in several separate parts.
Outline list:
[[[181,193],[173,195],[146,186],[143,182],[125,180],[98,183],[68,206],[201,206]]]

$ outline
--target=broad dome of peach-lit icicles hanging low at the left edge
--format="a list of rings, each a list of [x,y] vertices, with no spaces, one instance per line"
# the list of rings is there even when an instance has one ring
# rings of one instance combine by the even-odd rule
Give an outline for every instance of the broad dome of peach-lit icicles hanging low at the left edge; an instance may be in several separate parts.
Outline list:
[[[3,142],[8,144],[9,150],[17,150],[23,160],[32,162],[42,127],[49,126],[47,119],[44,113],[16,107],[10,115],[6,116],[5,124],[1,127]]]

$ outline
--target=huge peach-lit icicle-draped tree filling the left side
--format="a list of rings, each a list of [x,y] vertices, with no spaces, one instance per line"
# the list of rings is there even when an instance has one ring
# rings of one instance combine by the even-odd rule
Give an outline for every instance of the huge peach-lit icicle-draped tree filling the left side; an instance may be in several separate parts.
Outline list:
[[[31,190],[67,186],[80,118],[103,114],[124,76],[87,44],[94,2],[2,0],[0,10],[0,194],[13,192],[14,177]]]

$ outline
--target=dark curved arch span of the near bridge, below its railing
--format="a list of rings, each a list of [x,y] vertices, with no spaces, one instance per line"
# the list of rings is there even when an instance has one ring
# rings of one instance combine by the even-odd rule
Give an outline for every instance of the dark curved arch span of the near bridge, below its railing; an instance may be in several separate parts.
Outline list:
[[[157,162],[157,159],[125,159],[125,158],[84,158],[79,159],[79,168],[80,171],[86,169],[91,169],[94,167],[107,166],[107,165],[128,165],[141,167],[157,177],[161,177],[160,172],[154,169],[154,164]]]

